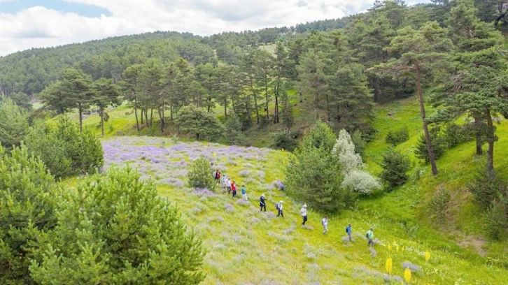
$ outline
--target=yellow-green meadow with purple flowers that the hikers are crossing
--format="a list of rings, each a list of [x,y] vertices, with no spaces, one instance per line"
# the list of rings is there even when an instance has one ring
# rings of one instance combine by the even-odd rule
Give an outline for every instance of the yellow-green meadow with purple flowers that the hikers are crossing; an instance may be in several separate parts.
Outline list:
[[[436,228],[407,217],[414,199],[401,205],[389,203],[418,192],[417,185],[362,202],[356,212],[330,217],[330,231],[322,235],[321,214],[311,209],[309,226],[302,227],[301,203],[276,187],[283,181],[287,152],[149,137],[108,138],[103,145],[107,165],[129,164],[155,180],[161,196],[178,205],[185,222],[203,239],[207,251],[204,284],[380,284],[389,278],[383,275],[388,256],[393,258],[392,279],[397,284],[404,262],[421,267],[411,284],[495,284],[508,277],[506,270],[488,265],[486,259],[458,247]],[[238,185],[246,184],[249,202],[233,200],[223,191],[183,187],[186,166],[199,155],[214,161]],[[257,207],[261,193],[267,196],[266,214]],[[275,217],[278,200],[283,200],[284,218]],[[407,226],[414,223],[416,231],[404,228],[402,219]],[[344,238],[350,222],[353,244]],[[363,238],[369,226],[374,226],[380,242],[376,256]],[[431,255],[428,263],[425,251]]]

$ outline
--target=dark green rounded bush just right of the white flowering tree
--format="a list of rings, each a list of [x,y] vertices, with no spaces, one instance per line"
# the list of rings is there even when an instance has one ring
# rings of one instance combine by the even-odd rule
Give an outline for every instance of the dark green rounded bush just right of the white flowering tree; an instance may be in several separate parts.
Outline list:
[[[386,182],[388,189],[400,186],[407,181],[407,171],[410,164],[407,156],[393,148],[388,149],[383,154],[383,162],[381,163],[381,179]]]

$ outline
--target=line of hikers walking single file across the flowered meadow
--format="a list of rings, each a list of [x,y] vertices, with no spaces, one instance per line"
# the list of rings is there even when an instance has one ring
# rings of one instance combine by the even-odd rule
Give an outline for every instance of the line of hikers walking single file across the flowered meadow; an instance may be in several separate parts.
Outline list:
[[[227,194],[229,195],[232,193],[232,197],[235,198],[237,196],[237,184],[234,180],[231,180],[230,177],[227,177],[226,175],[221,175],[220,171],[217,169],[214,173],[214,180],[216,182],[220,183],[220,187],[225,189],[227,191]],[[243,196],[244,200],[248,201],[247,198],[247,191],[245,189],[245,185],[241,186],[241,195]],[[278,211],[277,217],[284,217],[283,212],[283,201],[279,201],[275,204],[275,208]],[[260,212],[267,212],[267,203],[266,199],[264,198],[264,193],[260,196]],[[302,226],[305,226],[305,223],[307,221],[307,205],[304,204],[302,206],[302,209],[300,210],[300,214],[302,215]],[[328,232],[328,216],[325,216],[323,219],[321,219],[321,226],[323,226],[323,235],[326,235]],[[349,242],[353,242],[353,238],[351,237],[353,233],[353,229],[351,228],[351,224],[348,224],[346,226],[346,233],[348,235]],[[367,247],[374,245],[374,228],[370,228],[367,233],[365,233],[365,238],[367,238]]]

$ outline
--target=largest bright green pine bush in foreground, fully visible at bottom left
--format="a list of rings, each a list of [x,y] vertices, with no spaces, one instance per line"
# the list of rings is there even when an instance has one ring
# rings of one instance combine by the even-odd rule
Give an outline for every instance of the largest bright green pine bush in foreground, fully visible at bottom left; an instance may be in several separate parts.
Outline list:
[[[30,272],[40,284],[199,284],[201,240],[131,168],[64,191],[57,227]]]

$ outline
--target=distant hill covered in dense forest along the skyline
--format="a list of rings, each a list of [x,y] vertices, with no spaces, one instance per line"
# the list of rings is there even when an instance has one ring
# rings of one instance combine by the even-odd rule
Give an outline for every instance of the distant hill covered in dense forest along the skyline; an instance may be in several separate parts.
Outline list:
[[[190,33],[157,31],[132,36],[119,36],[99,41],[63,45],[50,48],[33,48],[16,52],[0,58],[0,91],[10,95],[23,93],[29,96],[38,94],[44,87],[60,78],[64,68],[74,66],[82,68],[94,78],[106,77],[118,80],[122,71],[132,64],[140,64],[148,58],[160,58],[174,61],[178,57],[191,64],[216,64],[224,61],[238,64],[238,58],[248,47],[298,38],[310,30],[330,31],[348,26],[358,19],[371,19],[380,12],[386,15],[392,29],[412,25],[417,27],[427,20],[444,23],[453,1],[435,0],[435,5],[407,7],[404,1],[376,1],[369,13],[353,15],[342,19],[320,20],[296,24],[294,27],[267,28],[260,31],[241,33],[225,32],[213,36],[200,37]],[[390,3],[391,2],[391,3]],[[451,2],[451,3],[450,3]],[[498,18],[501,23],[506,17],[497,10],[500,1],[476,0],[477,13],[482,20],[492,21]],[[488,3],[487,3],[488,2]],[[366,22],[366,24],[369,24]],[[213,56],[216,50],[217,57]]]

